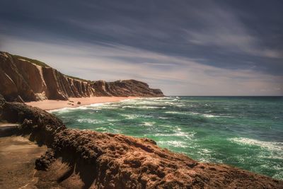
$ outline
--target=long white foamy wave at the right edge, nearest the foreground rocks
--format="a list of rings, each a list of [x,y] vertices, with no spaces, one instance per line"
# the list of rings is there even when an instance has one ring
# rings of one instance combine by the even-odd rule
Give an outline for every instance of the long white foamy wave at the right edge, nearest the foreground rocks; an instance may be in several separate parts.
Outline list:
[[[272,151],[281,151],[283,154],[283,142],[266,142],[266,141],[260,141],[258,139],[248,139],[244,137],[231,138],[230,141],[236,142],[238,144],[258,146],[265,149],[270,149]]]

